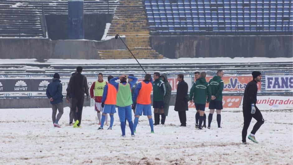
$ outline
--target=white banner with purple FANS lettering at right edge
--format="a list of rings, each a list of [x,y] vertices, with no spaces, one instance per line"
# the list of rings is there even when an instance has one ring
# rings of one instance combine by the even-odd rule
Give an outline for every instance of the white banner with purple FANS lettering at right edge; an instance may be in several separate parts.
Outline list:
[[[266,76],[266,90],[293,90],[293,77]]]

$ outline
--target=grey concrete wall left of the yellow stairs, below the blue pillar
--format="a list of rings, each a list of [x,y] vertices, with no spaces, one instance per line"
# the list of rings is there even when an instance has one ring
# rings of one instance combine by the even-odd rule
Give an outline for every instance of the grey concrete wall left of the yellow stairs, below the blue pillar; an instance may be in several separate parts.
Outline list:
[[[122,40],[125,42],[125,37]],[[0,59],[100,59],[97,49],[126,47],[115,38],[106,41],[0,38]]]

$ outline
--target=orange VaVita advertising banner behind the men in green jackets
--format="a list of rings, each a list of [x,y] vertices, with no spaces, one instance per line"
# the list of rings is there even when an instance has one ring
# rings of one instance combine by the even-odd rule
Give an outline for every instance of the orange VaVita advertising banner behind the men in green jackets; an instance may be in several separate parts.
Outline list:
[[[213,77],[206,77],[209,82]],[[252,76],[224,76],[224,91],[245,90],[247,83],[252,80]],[[257,89],[261,90],[261,83],[257,83]]]

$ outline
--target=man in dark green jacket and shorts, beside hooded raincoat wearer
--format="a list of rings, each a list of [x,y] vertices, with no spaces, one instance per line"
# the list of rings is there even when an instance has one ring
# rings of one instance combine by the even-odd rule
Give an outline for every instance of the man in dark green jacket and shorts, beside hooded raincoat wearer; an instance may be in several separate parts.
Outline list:
[[[155,124],[160,124],[160,114],[164,115],[164,97],[166,95],[166,86],[164,81],[160,78],[160,73],[155,72],[153,75],[153,108],[155,115]],[[162,116],[163,117],[163,116]]]

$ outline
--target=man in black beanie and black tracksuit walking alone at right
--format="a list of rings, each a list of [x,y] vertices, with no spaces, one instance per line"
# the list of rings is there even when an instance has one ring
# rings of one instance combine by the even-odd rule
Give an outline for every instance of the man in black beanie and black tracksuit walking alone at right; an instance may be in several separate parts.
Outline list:
[[[254,118],[257,120],[256,124],[254,124],[253,129],[248,135],[248,138],[252,140],[254,143],[258,143],[255,139],[255,133],[264,123],[264,119],[262,117],[261,111],[255,105],[257,103],[257,82],[260,82],[262,79],[262,74],[258,71],[252,72],[253,80],[250,81],[244,91],[243,96],[243,118],[244,118],[244,125],[242,129],[242,143],[246,144],[246,135],[247,129],[251,122],[251,119]]]

